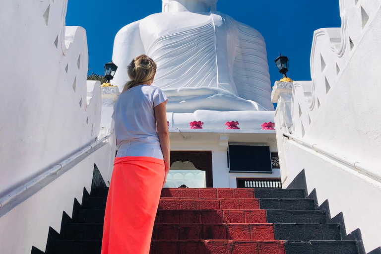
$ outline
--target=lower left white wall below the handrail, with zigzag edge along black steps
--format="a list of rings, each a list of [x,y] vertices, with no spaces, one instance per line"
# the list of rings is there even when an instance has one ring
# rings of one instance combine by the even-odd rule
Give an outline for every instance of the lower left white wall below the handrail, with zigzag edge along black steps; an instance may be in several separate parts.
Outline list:
[[[104,172],[113,160],[105,155],[112,151],[106,144],[0,217],[0,253],[30,254],[32,246],[45,251],[49,227],[60,233],[63,211],[71,217],[74,198],[81,203],[83,187],[90,192],[94,163],[106,179]]]

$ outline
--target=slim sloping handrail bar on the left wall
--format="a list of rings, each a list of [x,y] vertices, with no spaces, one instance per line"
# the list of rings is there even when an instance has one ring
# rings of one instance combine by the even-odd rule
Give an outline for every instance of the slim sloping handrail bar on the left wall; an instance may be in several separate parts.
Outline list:
[[[41,182],[43,179],[47,178],[48,176],[51,176],[51,175],[54,175],[54,174],[58,175],[60,173],[60,170],[64,166],[66,166],[67,164],[73,162],[75,159],[77,159],[81,155],[83,155],[85,153],[88,153],[91,149],[93,149],[94,147],[96,147],[97,145],[99,145],[100,143],[102,143],[103,141],[105,141],[106,139],[108,139],[112,135],[113,135],[113,132],[107,134],[106,136],[104,136],[103,138],[99,139],[98,141],[92,143],[89,146],[86,146],[85,148],[83,148],[79,152],[77,152],[74,155],[68,157],[66,160],[58,163],[56,166],[48,169],[44,173],[42,173],[39,176],[33,178],[28,183],[19,186],[15,190],[13,190],[10,193],[6,194],[5,196],[1,197],[0,198],[0,209],[1,209],[1,207],[4,207],[4,205],[7,204],[9,201],[11,201],[12,199],[17,197],[18,195],[20,195],[24,191],[30,189],[32,186],[37,185],[39,182]]]

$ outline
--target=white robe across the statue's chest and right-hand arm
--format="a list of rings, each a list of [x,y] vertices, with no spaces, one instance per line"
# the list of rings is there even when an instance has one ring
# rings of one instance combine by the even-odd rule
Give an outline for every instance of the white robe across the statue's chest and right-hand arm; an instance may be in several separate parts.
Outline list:
[[[157,63],[153,85],[162,89],[220,88],[273,110],[262,35],[217,13],[166,12],[138,21],[139,31],[129,34],[141,40],[144,52],[140,47],[135,55],[146,54]]]

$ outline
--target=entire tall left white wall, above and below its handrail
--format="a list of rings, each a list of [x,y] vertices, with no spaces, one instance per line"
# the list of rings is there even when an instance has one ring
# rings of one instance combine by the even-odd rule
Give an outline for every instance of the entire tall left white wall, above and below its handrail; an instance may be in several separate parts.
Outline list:
[[[98,137],[100,82],[86,83],[86,31],[65,27],[66,6],[0,1],[0,197]],[[74,197],[89,190],[94,163],[107,179],[113,139],[0,217],[1,253],[45,250],[49,226],[60,231],[62,212],[71,216]]]

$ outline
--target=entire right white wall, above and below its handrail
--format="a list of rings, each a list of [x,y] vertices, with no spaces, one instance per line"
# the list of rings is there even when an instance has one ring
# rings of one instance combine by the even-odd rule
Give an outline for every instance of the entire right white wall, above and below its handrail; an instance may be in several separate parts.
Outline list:
[[[343,212],[347,233],[361,229],[367,252],[381,245],[381,183],[335,158],[381,172],[380,5],[380,0],[340,0],[341,28],[315,32],[312,81],[293,82],[290,100],[287,90],[273,99],[284,187],[305,169],[308,191],[317,189],[319,204],[329,200],[332,217]],[[288,103],[291,113],[284,107]],[[334,156],[282,136],[288,131]]]

